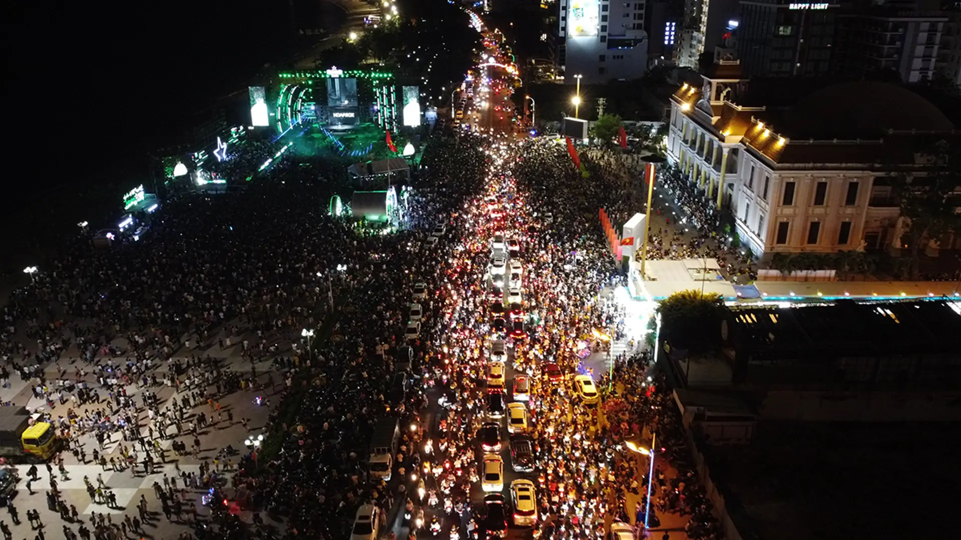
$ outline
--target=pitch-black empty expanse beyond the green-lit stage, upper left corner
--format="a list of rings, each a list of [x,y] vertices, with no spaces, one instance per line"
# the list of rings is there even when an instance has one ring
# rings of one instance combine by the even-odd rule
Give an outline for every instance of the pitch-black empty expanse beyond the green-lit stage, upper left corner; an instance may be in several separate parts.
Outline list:
[[[5,4],[3,88],[12,114],[0,209],[64,183],[146,175],[148,149],[177,142],[195,112],[283,58],[285,4]]]

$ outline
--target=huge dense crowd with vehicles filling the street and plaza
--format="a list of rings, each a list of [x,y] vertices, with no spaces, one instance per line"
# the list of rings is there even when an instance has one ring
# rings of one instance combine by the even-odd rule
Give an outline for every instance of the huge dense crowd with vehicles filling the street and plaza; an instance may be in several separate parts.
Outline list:
[[[31,273],[0,335],[7,539],[719,537],[598,220],[637,197],[519,136],[484,42],[396,223],[332,215],[330,164],[277,154]],[[222,174],[274,150],[247,152]]]

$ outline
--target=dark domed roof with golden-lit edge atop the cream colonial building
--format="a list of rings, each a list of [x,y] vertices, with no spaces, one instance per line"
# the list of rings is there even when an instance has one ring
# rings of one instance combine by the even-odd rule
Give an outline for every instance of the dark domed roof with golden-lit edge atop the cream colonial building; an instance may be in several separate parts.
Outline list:
[[[694,112],[702,89],[682,86],[673,97]],[[877,81],[754,79],[711,110],[719,135],[743,137],[746,146],[779,164],[915,164],[920,148],[905,144],[908,139],[954,130],[923,96]]]

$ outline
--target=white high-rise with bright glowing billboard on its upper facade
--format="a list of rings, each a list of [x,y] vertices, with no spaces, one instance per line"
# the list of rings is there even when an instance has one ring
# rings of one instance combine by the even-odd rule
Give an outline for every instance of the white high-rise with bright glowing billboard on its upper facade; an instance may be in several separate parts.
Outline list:
[[[637,79],[647,71],[645,0],[559,0],[557,68],[566,84]]]

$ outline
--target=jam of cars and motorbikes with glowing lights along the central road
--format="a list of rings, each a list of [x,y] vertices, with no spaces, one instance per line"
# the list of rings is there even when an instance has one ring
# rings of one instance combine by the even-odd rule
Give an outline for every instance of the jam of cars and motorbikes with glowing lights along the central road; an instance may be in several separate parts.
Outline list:
[[[518,148],[490,137],[485,192],[454,217],[462,238],[441,285],[447,331],[426,362],[440,406],[423,442],[421,534],[444,540],[604,534],[600,392],[577,373],[575,325],[543,316],[559,306],[537,275],[545,224],[510,175]]]

